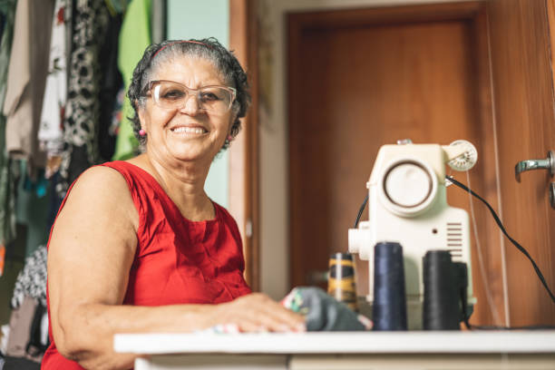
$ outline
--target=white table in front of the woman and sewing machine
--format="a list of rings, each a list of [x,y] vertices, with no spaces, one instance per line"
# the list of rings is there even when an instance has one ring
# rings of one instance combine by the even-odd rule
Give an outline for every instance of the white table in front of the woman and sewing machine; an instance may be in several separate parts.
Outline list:
[[[555,330],[121,334],[114,349],[149,355],[135,370],[555,370]]]

